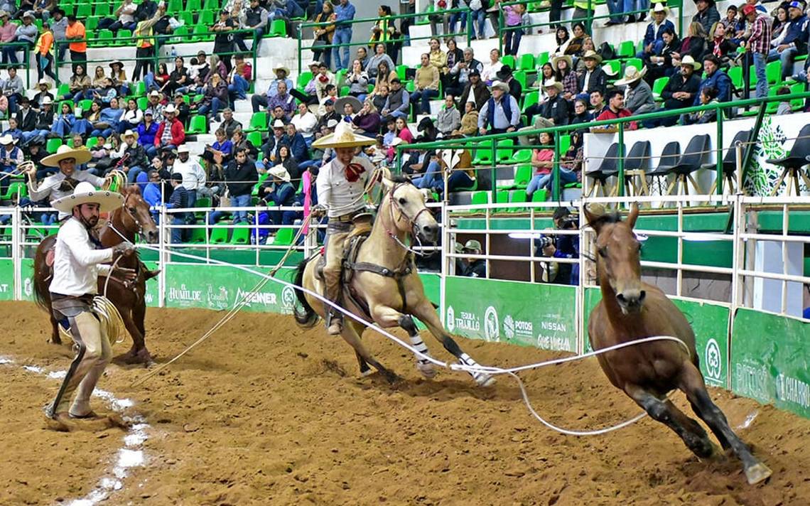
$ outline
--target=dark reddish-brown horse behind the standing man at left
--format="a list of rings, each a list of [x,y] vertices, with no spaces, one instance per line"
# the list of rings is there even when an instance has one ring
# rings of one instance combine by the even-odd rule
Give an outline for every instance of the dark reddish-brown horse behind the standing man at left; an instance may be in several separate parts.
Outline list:
[[[100,228],[99,240],[101,244],[105,248],[111,248],[115,244],[122,242],[122,236],[134,243],[136,235],[140,235],[148,243],[156,243],[159,240],[159,232],[149,212],[149,204],[141,196],[139,186],[126,186],[122,188],[121,193],[124,196],[124,205],[110,213],[108,222]],[[36,303],[45,309],[50,317],[53,328],[50,342],[60,344],[62,338],[59,337],[58,321],[53,318],[50,291],[48,290],[53,276],[53,266],[46,261],[48,252],[53,249],[55,244],[56,235],[54,234],[46,237],[36,247],[33,284]],[[147,351],[145,342],[146,328],[143,325],[147,308],[144,296],[146,295],[147,280],[154,277],[156,273],[146,270],[137,255],[121,257],[118,266],[135,270],[137,276],[134,282],[126,284],[115,277],[107,283],[107,298],[121,313],[126,330],[132,336],[132,348],[119,359],[126,364],[149,364],[151,363],[151,355]],[[104,283],[106,281],[106,277],[99,278],[99,293],[104,293]]]

